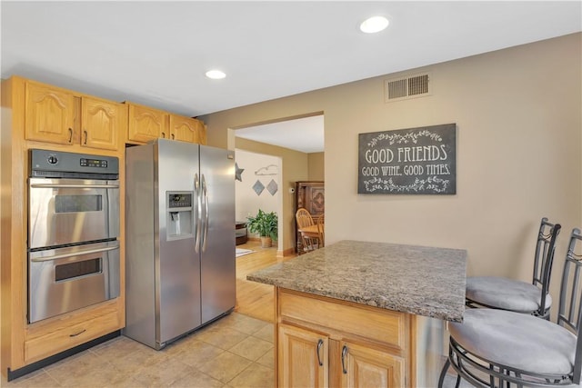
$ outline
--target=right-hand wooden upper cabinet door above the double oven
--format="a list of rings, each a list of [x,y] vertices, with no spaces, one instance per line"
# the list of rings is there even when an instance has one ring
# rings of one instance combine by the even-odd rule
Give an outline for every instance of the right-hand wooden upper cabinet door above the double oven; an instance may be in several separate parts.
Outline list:
[[[117,150],[126,106],[91,97],[81,99],[81,145]]]

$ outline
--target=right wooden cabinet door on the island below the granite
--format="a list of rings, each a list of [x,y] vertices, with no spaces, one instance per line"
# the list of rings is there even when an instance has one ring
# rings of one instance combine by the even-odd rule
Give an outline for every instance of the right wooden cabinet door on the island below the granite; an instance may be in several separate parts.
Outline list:
[[[403,387],[405,360],[362,344],[341,343],[342,387]]]

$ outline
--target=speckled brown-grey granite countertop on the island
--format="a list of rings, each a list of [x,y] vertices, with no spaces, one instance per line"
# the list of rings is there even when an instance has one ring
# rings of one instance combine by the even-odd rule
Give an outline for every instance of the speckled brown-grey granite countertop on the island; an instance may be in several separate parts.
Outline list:
[[[289,290],[460,322],[467,251],[341,241],[246,279]]]

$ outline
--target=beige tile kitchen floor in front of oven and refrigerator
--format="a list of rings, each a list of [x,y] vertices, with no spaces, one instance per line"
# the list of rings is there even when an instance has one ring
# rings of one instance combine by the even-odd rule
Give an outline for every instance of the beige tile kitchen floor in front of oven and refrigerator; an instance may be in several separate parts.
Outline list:
[[[273,387],[273,324],[231,313],[161,351],[123,335],[2,387]]]

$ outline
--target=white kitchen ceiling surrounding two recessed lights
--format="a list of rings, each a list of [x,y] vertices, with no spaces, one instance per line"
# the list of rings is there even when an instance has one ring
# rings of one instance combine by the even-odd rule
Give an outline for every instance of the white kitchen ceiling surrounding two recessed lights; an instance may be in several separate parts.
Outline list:
[[[581,5],[3,0],[1,76],[197,116],[579,32]]]

